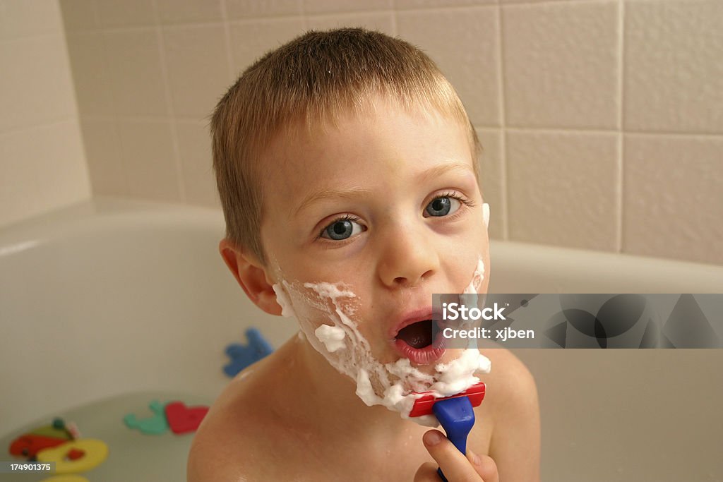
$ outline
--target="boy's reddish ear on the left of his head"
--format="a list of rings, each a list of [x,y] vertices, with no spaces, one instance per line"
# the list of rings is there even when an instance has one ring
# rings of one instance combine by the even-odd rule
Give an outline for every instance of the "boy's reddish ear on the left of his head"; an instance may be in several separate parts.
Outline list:
[[[271,278],[266,275],[266,268],[256,257],[245,249],[239,249],[228,238],[221,240],[218,251],[249,299],[263,311],[281,315],[281,306],[276,302]]]

